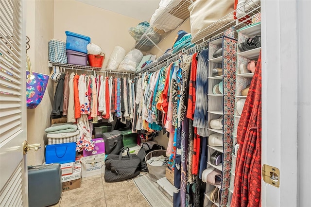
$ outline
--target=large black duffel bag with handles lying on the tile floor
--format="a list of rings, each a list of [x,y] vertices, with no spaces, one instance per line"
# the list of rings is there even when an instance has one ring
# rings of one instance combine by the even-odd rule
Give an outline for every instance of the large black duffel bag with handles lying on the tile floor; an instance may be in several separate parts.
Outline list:
[[[131,155],[129,150],[126,156],[109,154],[105,160],[105,182],[118,182],[136,177],[139,172],[140,158]]]

